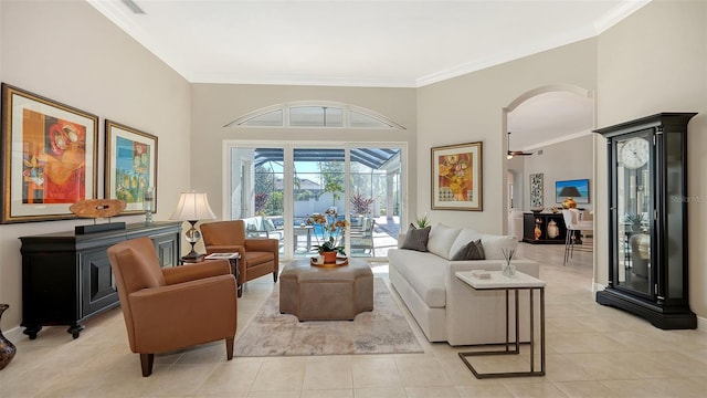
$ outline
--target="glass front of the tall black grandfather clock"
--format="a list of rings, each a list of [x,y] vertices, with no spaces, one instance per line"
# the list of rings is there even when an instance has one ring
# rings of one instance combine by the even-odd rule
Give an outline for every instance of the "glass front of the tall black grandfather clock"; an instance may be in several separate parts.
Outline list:
[[[615,139],[616,188],[614,285],[651,296],[651,237],[653,237],[653,130]]]

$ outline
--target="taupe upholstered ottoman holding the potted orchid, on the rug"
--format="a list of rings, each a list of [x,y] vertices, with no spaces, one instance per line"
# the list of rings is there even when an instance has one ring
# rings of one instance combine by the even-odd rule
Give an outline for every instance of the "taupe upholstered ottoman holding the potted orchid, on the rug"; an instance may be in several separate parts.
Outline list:
[[[373,273],[363,260],[348,265],[313,266],[309,259],[287,264],[279,274],[279,312],[299,321],[352,321],[373,310]]]

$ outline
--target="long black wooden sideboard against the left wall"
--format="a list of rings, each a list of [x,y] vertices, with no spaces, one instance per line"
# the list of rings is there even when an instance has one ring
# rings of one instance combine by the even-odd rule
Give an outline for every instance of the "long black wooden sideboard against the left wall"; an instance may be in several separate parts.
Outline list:
[[[173,266],[181,252],[180,233],[181,222],[156,222],[108,232],[21,237],[24,334],[34,339],[44,325],[68,325],[66,332],[77,338],[83,322],[119,305],[106,250],[150,237],[160,265]]]

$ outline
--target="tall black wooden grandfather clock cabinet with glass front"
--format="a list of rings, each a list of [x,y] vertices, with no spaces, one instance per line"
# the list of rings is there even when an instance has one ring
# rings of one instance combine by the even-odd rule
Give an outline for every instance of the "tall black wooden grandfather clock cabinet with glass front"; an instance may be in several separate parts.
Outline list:
[[[688,303],[687,124],[662,113],[595,130],[606,138],[609,283],[597,302],[663,329],[696,328]]]

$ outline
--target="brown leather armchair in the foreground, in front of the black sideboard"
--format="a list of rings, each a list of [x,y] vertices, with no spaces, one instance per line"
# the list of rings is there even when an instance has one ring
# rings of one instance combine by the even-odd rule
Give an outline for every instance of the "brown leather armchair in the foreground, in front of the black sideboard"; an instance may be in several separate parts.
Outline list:
[[[233,358],[238,304],[229,262],[160,269],[152,241],[138,238],[108,248],[133,353],[143,376],[156,353],[225,339]]]

